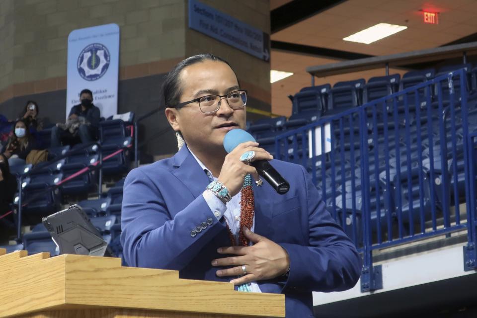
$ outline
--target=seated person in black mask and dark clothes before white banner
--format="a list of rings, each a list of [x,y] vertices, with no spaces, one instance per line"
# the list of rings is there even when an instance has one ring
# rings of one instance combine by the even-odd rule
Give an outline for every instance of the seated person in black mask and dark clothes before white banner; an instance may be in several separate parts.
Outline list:
[[[69,145],[90,143],[97,139],[99,128],[99,108],[94,106],[93,93],[81,90],[79,105],[73,106],[66,124],[57,124],[51,131],[51,147],[61,147],[62,142]],[[72,132],[73,131],[73,132]]]

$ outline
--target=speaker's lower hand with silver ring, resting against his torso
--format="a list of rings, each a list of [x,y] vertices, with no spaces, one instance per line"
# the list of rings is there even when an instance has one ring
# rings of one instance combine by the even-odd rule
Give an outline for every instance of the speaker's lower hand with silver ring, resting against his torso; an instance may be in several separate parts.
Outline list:
[[[226,258],[214,259],[213,266],[235,266],[217,271],[217,276],[243,275],[242,265],[247,274],[233,279],[231,283],[240,285],[257,280],[273,279],[285,275],[290,267],[287,251],[277,243],[243,228],[243,234],[254,244],[252,246],[228,246],[218,249],[220,254],[235,254]]]

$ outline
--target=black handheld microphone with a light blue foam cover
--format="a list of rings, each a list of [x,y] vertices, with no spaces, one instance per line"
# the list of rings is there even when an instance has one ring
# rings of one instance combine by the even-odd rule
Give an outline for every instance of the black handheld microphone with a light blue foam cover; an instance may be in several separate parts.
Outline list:
[[[239,144],[247,141],[255,142],[255,138],[242,129],[232,129],[224,138],[224,148],[227,153],[230,153]],[[290,189],[290,184],[285,180],[280,173],[268,162],[268,160],[255,160],[250,162],[250,165],[257,169],[257,172],[267,181],[278,194],[285,194]]]

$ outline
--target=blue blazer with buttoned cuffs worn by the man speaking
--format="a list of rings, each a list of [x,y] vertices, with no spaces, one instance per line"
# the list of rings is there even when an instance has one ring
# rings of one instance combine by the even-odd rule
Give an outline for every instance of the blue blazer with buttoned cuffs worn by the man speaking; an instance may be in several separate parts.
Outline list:
[[[255,233],[285,248],[288,278],[258,281],[265,293],[284,293],[286,317],[313,317],[312,291],[353,287],[361,273],[354,244],[331,218],[307,171],[272,160],[290,183],[285,195],[264,182],[255,196]],[[173,269],[181,278],[230,281],[217,277],[212,259],[229,246],[224,218],[217,220],[202,192],[210,183],[187,147],[172,158],[132,170],[124,182],[121,243],[130,266]],[[205,229],[191,235],[196,227]]]

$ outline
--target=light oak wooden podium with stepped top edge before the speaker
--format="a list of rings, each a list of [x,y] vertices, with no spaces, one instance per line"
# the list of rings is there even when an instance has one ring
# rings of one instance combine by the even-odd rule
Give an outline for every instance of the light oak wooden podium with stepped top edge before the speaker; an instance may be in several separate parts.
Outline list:
[[[285,317],[285,296],[122,267],[119,258],[0,249],[0,317]]]

